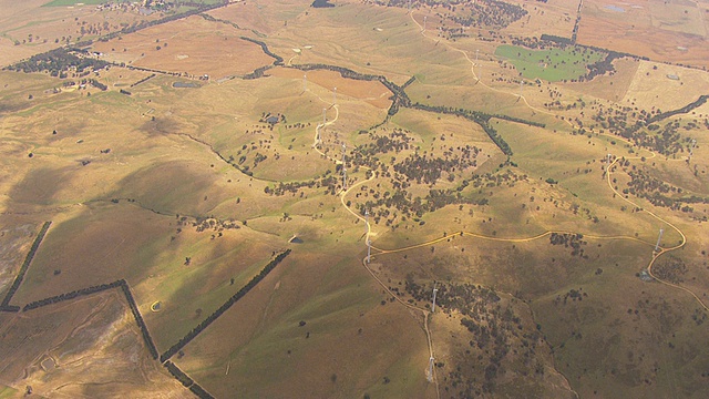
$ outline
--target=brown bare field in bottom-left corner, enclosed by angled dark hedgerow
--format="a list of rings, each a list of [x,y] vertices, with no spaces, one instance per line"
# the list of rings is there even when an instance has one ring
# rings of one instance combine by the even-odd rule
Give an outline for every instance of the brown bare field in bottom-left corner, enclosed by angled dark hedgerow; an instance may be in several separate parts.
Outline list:
[[[49,305],[22,317],[0,314],[0,355],[13,359],[0,367],[0,381],[22,387],[21,393],[30,386],[32,393],[43,397],[192,395],[150,357],[117,290]]]

